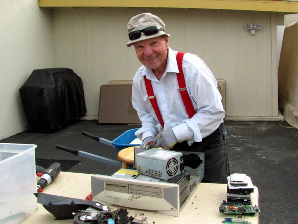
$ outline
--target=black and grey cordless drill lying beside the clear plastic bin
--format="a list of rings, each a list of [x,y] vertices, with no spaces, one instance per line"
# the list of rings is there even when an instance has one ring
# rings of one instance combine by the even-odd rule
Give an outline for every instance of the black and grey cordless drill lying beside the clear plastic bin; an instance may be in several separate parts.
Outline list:
[[[42,192],[41,189],[48,186],[58,176],[61,171],[61,164],[54,162],[47,169],[44,169],[41,166],[36,166],[36,171],[42,173],[37,182],[37,191]]]

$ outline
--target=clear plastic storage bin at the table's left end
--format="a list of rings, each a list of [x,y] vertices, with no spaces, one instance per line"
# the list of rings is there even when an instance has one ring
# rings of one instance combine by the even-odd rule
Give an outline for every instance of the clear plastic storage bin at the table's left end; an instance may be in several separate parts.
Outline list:
[[[21,223],[37,209],[36,147],[0,143],[0,223]]]

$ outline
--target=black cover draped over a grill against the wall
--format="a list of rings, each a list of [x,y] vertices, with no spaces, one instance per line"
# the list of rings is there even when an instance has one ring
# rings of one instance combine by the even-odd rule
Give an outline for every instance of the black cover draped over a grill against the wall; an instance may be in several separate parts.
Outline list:
[[[33,70],[19,93],[32,131],[59,129],[86,113],[82,79],[72,69]]]

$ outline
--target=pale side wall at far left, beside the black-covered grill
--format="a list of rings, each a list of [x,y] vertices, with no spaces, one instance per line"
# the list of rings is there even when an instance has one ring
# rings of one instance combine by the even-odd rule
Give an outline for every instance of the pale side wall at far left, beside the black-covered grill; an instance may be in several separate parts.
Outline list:
[[[51,12],[36,0],[0,1],[0,139],[28,125],[19,88],[33,69],[52,67]]]

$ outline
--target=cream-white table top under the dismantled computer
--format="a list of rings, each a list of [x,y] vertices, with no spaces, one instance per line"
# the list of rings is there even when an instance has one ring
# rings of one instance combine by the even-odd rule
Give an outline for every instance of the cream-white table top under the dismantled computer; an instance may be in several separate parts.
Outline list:
[[[44,193],[85,199],[91,192],[91,174],[61,172],[53,183],[44,189]],[[223,215],[219,212],[220,203],[226,200],[227,184],[200,183],[180,211],[179,217],[168,216],[156,211],[146,211],[127,208],[128,216],[136,219],[146,218],[148,223],[221,223],[225,217],[235,218],[235,215]],[[251,201],[258,205],[258,188],[254,187]],[[113,206],[112,206],[113,207]],[[114,207],[117,209],[117,207]],[[245,216],[253,223],[258,223],[259,215]],[[38,204],[38,210],[23,223],[73,223],[73,219],[54,220],[54,216]]]

